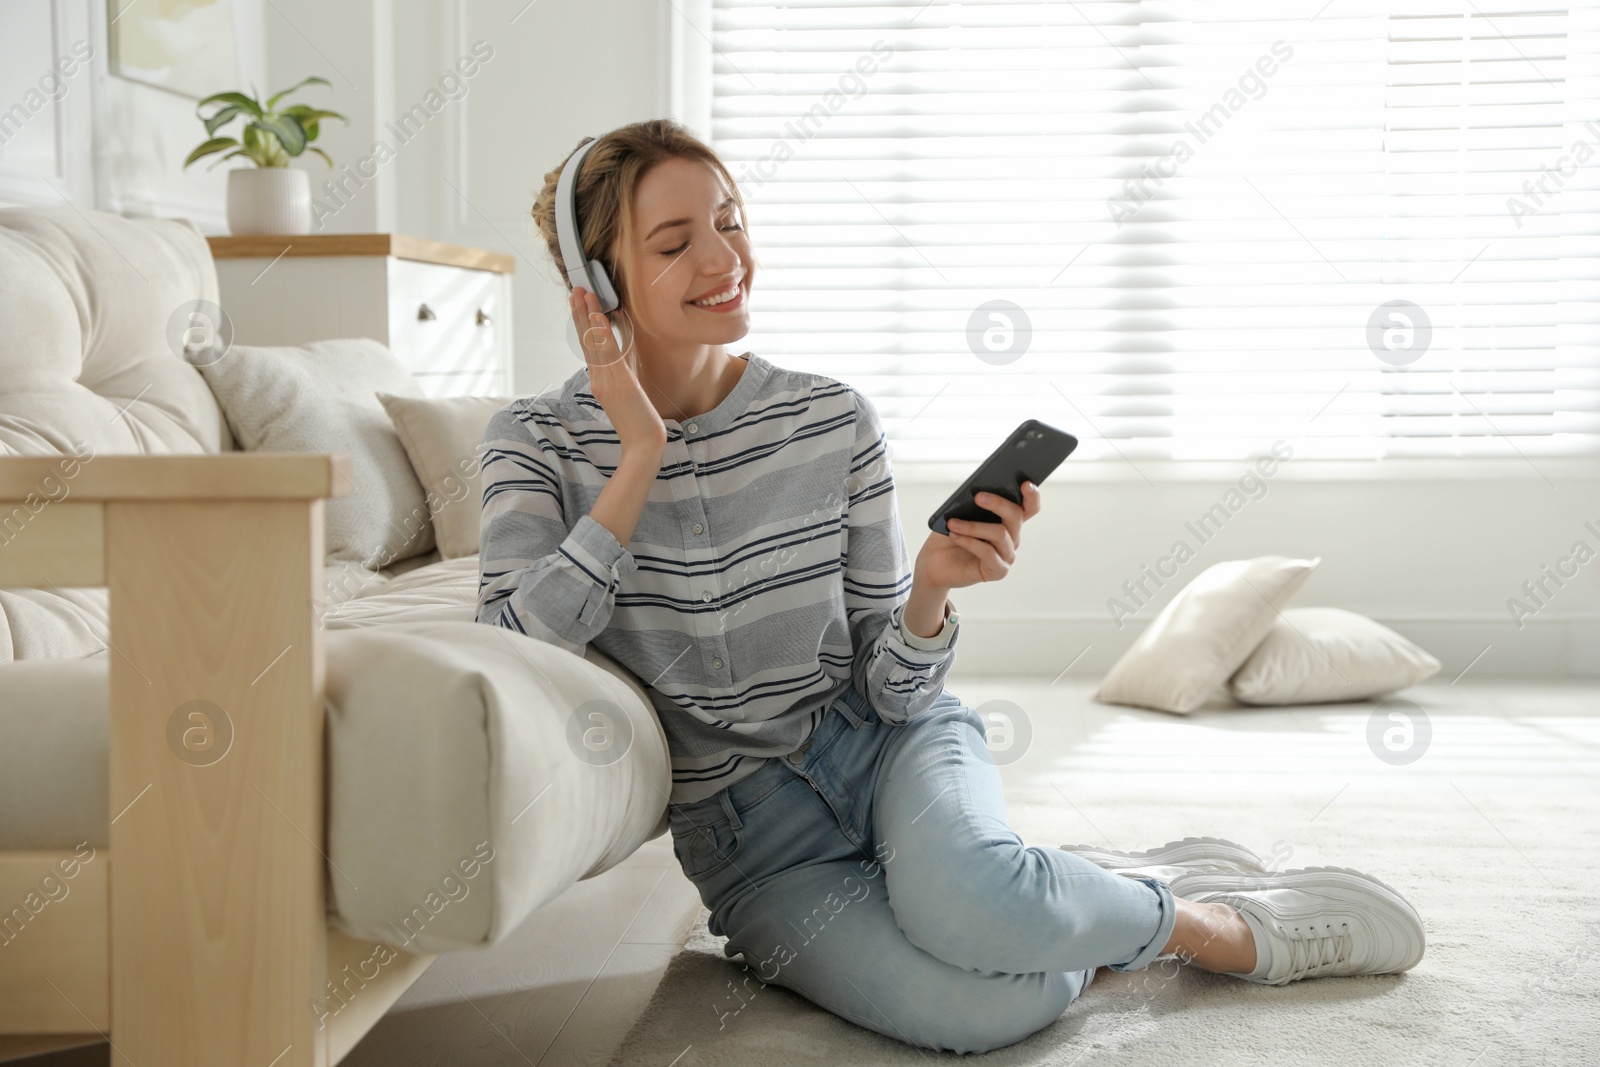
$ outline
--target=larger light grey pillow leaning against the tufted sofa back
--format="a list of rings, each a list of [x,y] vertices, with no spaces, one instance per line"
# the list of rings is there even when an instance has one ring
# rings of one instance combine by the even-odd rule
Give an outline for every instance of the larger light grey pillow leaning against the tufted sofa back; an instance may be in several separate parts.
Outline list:
[[[422,485],[379,392],[421,395],[371,338],[304,346],[235,344],[200,366],[240,448],[350,456],[349,494],[323,504],[330,560],[382,568],[434,547]]]

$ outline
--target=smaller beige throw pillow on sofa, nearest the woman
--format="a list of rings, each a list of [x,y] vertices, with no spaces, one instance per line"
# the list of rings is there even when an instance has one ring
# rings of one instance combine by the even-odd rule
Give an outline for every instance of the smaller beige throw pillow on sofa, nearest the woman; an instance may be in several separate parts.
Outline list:
[[[422,483],[440,558],[477,555],[483,515],[483,432],[490,418],[514,397],[378,394],[378,400],[389,411]]]

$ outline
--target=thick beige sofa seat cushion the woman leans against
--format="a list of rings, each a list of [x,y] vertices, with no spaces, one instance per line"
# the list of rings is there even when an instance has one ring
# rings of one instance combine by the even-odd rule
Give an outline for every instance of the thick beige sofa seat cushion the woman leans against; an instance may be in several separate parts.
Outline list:
[[[462,621],[325,641],[328,904],[350,936],[496,944],[662,830],[666,736],[600,653]],[[110,845],[107,662],[0,664],[0,851]]]

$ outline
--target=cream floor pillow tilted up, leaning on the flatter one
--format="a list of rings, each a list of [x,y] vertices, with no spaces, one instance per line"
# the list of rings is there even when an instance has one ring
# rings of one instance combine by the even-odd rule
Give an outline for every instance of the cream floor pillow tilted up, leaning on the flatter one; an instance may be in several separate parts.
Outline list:
[[[1262,555],[1206,568],[1173,597],[1101,681],[1094,699],[1187,715],[1256,649],[1322,563]]]

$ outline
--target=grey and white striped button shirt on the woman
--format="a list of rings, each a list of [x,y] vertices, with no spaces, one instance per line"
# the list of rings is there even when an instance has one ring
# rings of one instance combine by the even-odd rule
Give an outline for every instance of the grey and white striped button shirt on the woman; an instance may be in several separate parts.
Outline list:
[[[706,414],[664,419],[661,472],[624,547],[590,517],[621,446],[587,368],[483,437],[478,622],[582,654],[654,704],[674,803],[806,739],[854,681],[904,725],[944,688],[957,621],[901,625],[912,574],[872,403],[755,354]]]

